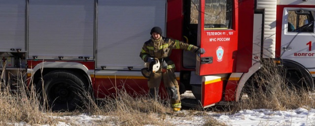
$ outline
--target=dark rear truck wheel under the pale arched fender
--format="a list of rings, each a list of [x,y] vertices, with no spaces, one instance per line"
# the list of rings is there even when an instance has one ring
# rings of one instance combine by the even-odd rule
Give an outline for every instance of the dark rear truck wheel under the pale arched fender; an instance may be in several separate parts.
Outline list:
[[[82,106],[85,85],[78,76],[59,70],[43,76],[43,81],[44,85],[42,81],[38,82],[36,90],[42,98],[47,98],[47,103],[53,111],[71,111]]]

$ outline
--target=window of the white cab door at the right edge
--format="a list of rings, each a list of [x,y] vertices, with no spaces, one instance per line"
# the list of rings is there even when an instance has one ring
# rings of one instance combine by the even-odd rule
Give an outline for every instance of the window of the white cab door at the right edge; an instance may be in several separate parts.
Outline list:
[[[314,32],[314,11],[289,10],[288,32]]]

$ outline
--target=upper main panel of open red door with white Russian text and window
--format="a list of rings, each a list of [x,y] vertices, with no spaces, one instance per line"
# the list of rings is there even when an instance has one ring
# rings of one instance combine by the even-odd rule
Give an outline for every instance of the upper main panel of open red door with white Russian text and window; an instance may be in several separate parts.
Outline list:
[[[237,7],[233,0],[201,0],[197,45],[206,50],[197,56],[200,76],[232,73],[237,50]]]

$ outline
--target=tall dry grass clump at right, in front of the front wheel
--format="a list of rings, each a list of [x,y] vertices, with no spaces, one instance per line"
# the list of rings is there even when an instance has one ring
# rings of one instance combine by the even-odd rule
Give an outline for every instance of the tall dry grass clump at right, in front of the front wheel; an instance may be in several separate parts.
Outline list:
[[[273,109],[286,110],[315,107],[315,94],[301,88],[292,88],[285,81],[285,70],[278,67],[273,60],[261,62],[263,67],[245,84],[243,92],[248,98],[236,104],[233,109]]]

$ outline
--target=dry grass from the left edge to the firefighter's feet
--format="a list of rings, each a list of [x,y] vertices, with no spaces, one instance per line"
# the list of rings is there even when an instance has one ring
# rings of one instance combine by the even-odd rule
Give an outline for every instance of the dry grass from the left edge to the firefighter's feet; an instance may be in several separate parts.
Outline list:
[[[2,73],[5,73],[2,71]],[[1,74],[2,75],[2,74]],[[170,126],[165,118],[173,115],[167,100],[152,100],[149,97],[132,97],[125,89],[117,89],[115,96],[109,96],[105,100],[96,102],[88,92],[83,93],[85,97],[84,107],[73,112],[52,112],[45,103],[39,101],[40,96],[35,93],[35,88],[27,88],[25,75],[18,75],[18,82],[12,92],[12,84],[1,78],[0,91],[0,125],[8,126],[21,123],[28,125],[56,125],[59,122],[66,122],[77,126],[75,122],[63,120],[58,117],[73,116],[87,113],[88,115],[108,116],[97,122],[98,126]],[[10,86],[11,85],[11,86]],[[135,94],[134,96],[138,96]],[[43,100],[47,101],[47,100]],[[57,117],[57,118],[56,118]]]

